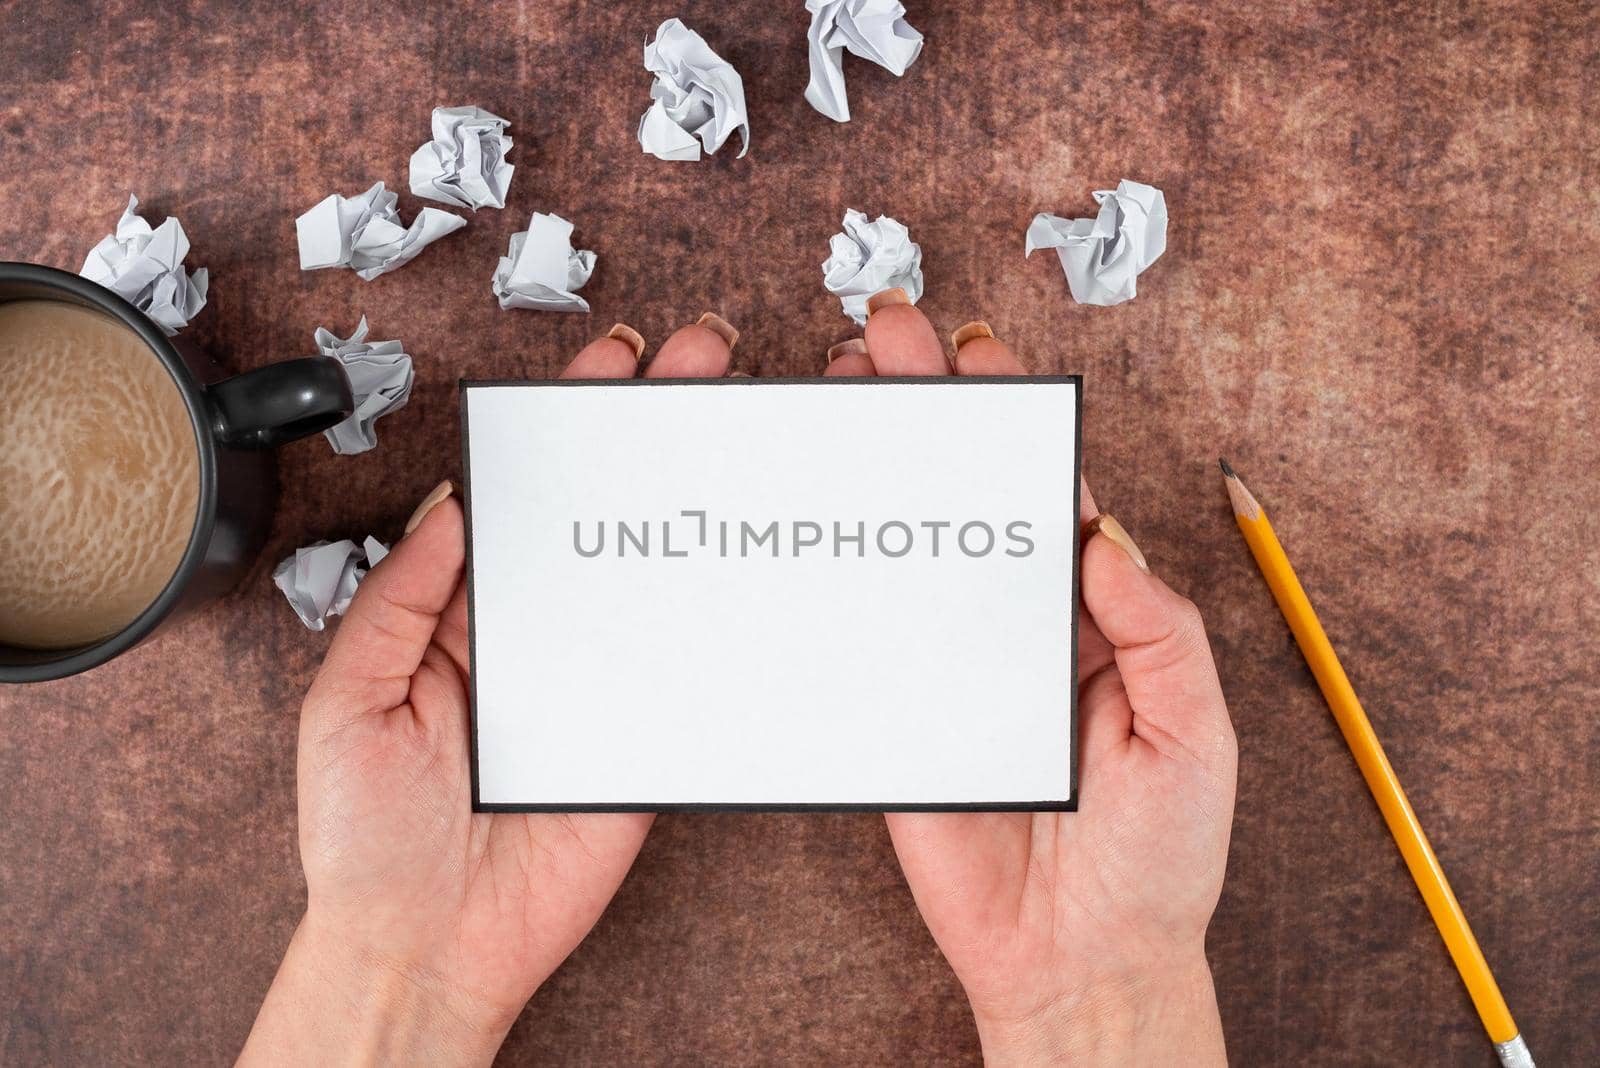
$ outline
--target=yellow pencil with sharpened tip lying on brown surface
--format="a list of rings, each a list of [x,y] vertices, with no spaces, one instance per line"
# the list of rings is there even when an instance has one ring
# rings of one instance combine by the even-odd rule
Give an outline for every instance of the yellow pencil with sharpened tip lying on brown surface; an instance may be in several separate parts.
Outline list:
[[[1411,870],[1411,878],[1416,879],[1416,889],[1422,892],[1422,900],[1427,902],[1427,911],[1432,913],[1434,924],[1438,926],[1438,934],[1445,938],[1450,958],[1456,962],[1456,970],[1461,972],[1467,993],[1472,994],[1472,1004],[1477,1006],[1478,1015],[1483,1018],[1483,1030],[1490,1033],[1494,1052],[1499,1054],[1501,1063],[1507,1068],[1533,1068],[1528,1044],[1523,1042],[1517,1023],[1510,1018],[1510,1009],[1506,1007],[1506,998],[1501,996],[1488,961],[1483,959],[1483,950],[1472,937],[1472,927],[1467,926],[1467,918],[1450,889],[1445,870],[1438,867],[1438,857],[1427,844],[1422,825],[1416,822],[1416,812],[1411,811],[1411,803],[1406,801],[1405,790],[1400,788],[1395,769],[1389,766],[1384,747],[1378,742],[1350,679],[1339,667],[1339,657],[1334,654],[1322,624],[1317,622],[1317,612],[1312,611],[1306,590],[1294,577],[1294,568],[1290,566],[1283,545],[1278,544],[1278,536],[1272,532],[1267,513],[1261,508],[1261,502],[1245,489],[1245,483],[1238,480],[1227,460],[1222,460],[1222,478],[1227,483],[1229,500],[1234,502],[1234,518],[1238,520],[1238,529],[1245,534],[1245,544],[1250,545],[1261,574],[1272,588],[1272,596],[1277,598],[1283,619],[1294,632],[1294,641],[1306,654],[1306,664],[1317,676],[1317,686],[1322,687],[1322,695],[1328,700],[1328,708],[1333,710],[1333,718],[1339,723],[1339,731],[1366,779],[1366,787],[1373,791],[1373,799],[1378,801],[1384,822],[1389,823],[1389,833],[1400,846],[1400,855],[1405,857],[1405,865]]]

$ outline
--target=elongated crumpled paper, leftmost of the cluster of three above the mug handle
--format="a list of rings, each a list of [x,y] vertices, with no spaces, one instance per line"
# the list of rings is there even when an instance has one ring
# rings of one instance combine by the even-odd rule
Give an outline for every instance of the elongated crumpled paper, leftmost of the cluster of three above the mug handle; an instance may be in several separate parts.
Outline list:
[[[301,270],[349,267],[363,281],[411,262],[424,248],[467,225],[438,208],[422,208],[411,225],[400,224],[398,197],[376,182],[360,197],[326,197],[294,219]]]

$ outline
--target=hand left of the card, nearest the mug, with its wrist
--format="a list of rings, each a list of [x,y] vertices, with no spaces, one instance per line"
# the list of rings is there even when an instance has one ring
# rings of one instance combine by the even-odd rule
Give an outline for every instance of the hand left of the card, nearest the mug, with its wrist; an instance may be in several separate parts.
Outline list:
[[[726,373],[738,333],[677,331],[646,376]],[[563,377],[634,377],[626,326]],[[442,484],[362,582],[301,711],[307,905],[243,1063],[490,1063],[600,918],[654,817],[470,812],[461,507]]]

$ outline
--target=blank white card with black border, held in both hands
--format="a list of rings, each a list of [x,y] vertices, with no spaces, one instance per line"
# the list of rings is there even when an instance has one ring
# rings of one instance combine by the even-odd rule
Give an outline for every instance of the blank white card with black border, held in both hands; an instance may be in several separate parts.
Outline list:
[[[474,809],[1072,809],[1077,377],[462,385]]]

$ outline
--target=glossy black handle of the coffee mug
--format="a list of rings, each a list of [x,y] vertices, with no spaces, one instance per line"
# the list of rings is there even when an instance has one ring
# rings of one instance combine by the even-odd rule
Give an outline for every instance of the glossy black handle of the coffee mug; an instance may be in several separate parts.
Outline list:
[[[350,379],[333,357],[283,360],[206,387],[216,440],[272,449],[349,419]]]

